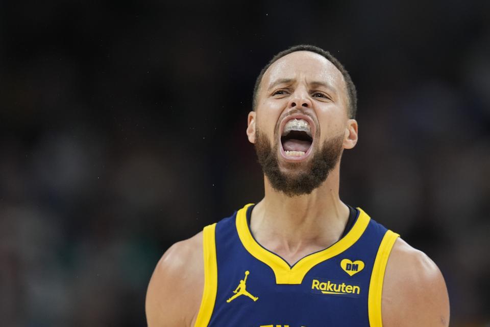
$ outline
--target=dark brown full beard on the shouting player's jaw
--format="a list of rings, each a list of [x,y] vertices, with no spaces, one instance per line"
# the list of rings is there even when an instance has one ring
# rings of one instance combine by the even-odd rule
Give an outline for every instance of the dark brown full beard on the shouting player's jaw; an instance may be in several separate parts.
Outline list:
[[[255,134],[255,152],[272,188],[294,197],[310,194],[327,179],[340,159],[343,139],[344,135],[341,134],[325,140],[320,149],[315,149],[308,162],[288,162],[288,169],[297,171],[290,174],[283,173],[279,168],[279,142],[276,141],[273,148],[267,136],[259,130]]]

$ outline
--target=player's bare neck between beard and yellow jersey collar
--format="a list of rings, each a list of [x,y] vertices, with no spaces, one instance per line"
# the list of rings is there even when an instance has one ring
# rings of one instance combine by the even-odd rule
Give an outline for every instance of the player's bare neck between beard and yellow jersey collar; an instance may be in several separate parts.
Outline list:
[[[338,196],[338,168],[308,195],[288,197],[264,180],[265,196],[254,207],[250,224],[263,247],[292,265],[338,241],[349,218],[349,207]]]

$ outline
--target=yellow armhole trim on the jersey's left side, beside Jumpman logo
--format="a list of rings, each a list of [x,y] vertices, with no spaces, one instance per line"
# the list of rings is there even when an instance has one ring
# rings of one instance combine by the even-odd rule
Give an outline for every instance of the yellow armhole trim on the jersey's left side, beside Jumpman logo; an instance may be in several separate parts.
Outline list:
[[[195,319],[195,327],[208,325],[216,300],[218,269],[216,263],[215,229],[216,223],[204,227],[203,230],[204,290],[198,317]]]

